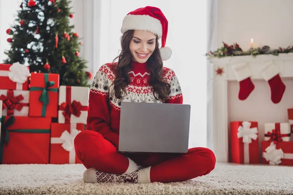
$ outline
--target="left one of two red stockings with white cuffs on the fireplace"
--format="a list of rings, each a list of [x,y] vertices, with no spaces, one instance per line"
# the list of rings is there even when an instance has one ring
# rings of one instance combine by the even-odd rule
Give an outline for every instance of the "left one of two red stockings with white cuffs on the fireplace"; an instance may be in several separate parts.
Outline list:
[[[251,71],[246,63],[233,65],[232,69],[240,86],[238,98],[245,100],[254,89],[254,84],[251,81]]]

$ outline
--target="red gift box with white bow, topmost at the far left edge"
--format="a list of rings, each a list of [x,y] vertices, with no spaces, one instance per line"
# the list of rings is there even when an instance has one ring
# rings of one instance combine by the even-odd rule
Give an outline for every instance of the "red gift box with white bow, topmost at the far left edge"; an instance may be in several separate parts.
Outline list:
[[[12,65],[17,64],[17,66],[23,66],[27,69],[27,73],[21,73],[21,74],[25,74],[26,79],[18,79],[19,82],[15,82],[13,81],[8,75],[10,73],[13,73],[13,71],[10,71],[10,67]],[[19,69],[19,68],[17,68]],[[22,68],[23,69],[23,68]],[[16,73],[17,75],[19,75],[19,73]],[[20,75],[19,75],[20,76]],[[28,76],[29,76],[29,68],[27,66],[24,66],[22,64],[14,63],[14,64],[0,64],[0,89],[6,89],[6,90],[27,90],[28,89]],[[20,82],[20,80],[22,80]],[[25,81],[24,81],[25,80]]]

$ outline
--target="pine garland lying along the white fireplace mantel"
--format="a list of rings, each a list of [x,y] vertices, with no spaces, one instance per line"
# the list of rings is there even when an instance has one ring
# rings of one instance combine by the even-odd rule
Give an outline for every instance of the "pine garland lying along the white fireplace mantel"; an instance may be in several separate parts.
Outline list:
[[[224,41],[223,47],[218,48],[215,51],[209,51],[205,54],[208,58],[222,58],[222,57],[228,57],[228,56],[253,56],[256,57],[257,55],[262,54],[272,54],[274,56],[278,56],[279,54],[288,54],[293,53],[293,46],[288,46],[287,48],[279,47],[278,49],[271,49],[268,45],[265,45],[263,47],[251,47],[247,51],[243,51],[237,43],[233,43],[232,45],[226,44]]]

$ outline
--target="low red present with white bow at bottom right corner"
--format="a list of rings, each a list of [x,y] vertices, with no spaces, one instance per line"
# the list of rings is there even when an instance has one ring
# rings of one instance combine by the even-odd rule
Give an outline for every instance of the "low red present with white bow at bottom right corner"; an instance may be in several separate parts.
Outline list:
[[[262,163],[270,165],[293,165],[293,141],[262,141]]]

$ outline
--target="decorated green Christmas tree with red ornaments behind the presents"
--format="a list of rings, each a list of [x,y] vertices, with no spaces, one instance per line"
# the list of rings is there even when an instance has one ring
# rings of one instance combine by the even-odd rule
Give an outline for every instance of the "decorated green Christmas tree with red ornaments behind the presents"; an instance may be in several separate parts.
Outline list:
[[[23,0],[15,24],[7,29],[11,48],[4,63],[29,64],[30,72],[60,74],[60,85],[87,86],[92,74],[79,57],[82,44],[69,0]]]

